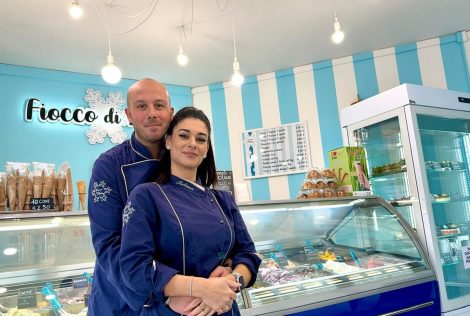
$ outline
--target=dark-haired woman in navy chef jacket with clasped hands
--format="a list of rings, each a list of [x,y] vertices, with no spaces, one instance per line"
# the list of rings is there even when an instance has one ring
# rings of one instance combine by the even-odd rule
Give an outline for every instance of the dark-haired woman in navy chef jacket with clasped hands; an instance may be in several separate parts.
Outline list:
[[[188,315],[239,315],[236,291],[256,279],[261,260],[233,197],[209,188],[217,180],[210,134],[201,110],[181,109],[167,131],[157,182],[129,195],[121,273],[135,293],[128,304],[145,306],[145,315],[178,315],[165,302],[188,296],[199,298]],[[233,272],[209,278],[227,258]]]

